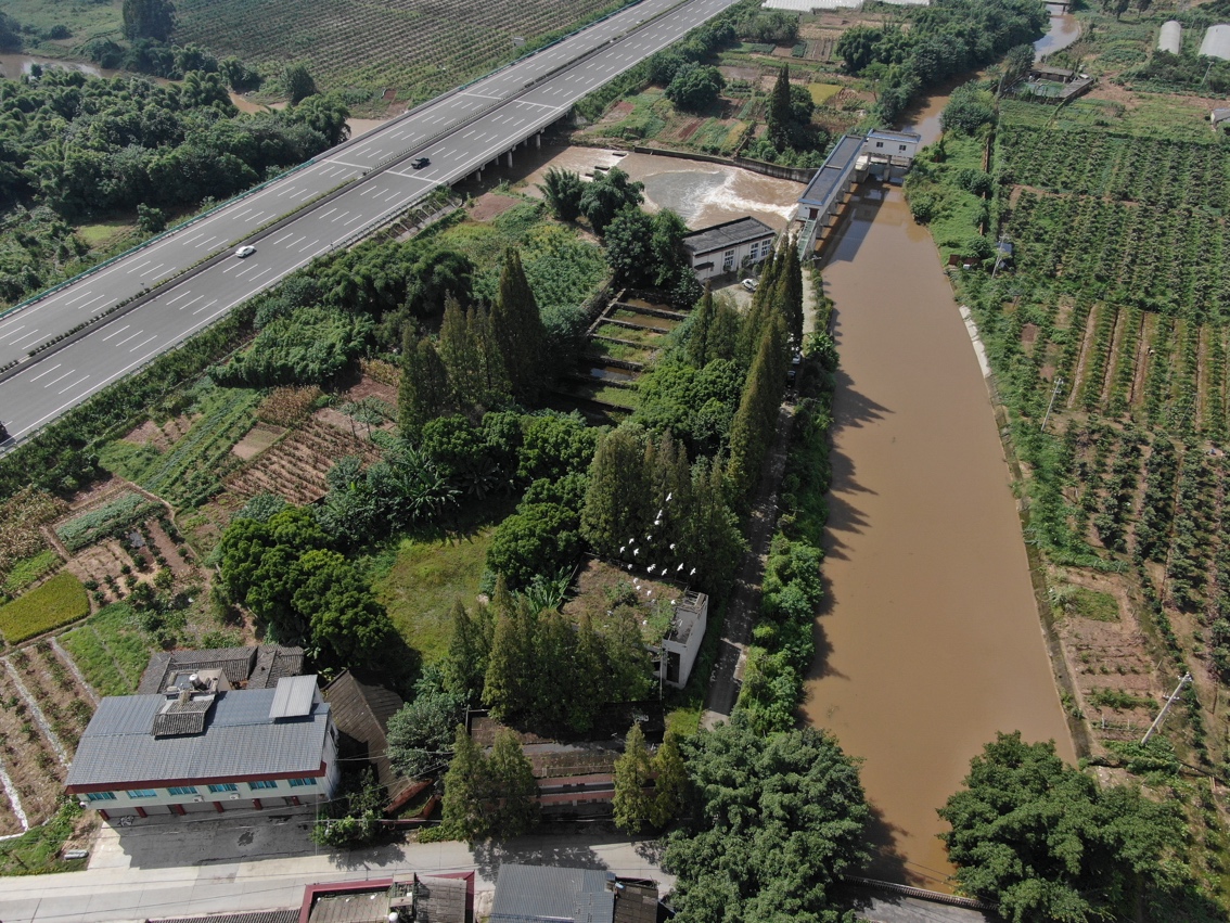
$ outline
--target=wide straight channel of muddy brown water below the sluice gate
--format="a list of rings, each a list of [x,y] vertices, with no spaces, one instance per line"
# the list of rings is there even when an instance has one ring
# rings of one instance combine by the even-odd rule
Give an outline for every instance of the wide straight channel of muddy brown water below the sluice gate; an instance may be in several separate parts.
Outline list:
[[[911,122],[934,142],[946,97]],[[978,358],[926,228],[866,183],[823,266],[841,352],[804,713],[862,757],[875,877],[951,890],[936,815],[996,731],[1075,758]]]

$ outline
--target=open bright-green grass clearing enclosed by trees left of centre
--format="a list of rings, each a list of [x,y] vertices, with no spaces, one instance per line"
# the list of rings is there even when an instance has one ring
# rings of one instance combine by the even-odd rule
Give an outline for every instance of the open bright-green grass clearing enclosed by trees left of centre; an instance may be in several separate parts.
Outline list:
[[[448,653],[449,612],[458,599],[474,604],[493,532],[487,525],[466,535],[405,538],[374,562],[376,597],[423,663],[437,663]]]

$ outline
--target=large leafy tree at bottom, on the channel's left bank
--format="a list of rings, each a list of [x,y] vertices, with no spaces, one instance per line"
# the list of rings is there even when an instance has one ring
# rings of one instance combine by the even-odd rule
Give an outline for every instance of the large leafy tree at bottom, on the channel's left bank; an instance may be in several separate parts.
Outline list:
[[[829,735],[761,736],[738,724],[683,745],[692,825],[667,839],[675,907],[696,923],[838,923],[843,873],[867,859],[871,809],[859,769]]]

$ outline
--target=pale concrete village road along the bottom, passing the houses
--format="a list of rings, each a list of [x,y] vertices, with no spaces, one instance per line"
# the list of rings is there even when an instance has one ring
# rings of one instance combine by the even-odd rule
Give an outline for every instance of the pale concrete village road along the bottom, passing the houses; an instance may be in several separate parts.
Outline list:
[[[501,863],[556,865],[649,877],[665,893],[661,844],[585,829],[506,843],[405,843],[351,853],[314,847],[310,813],[272,811],[188,820],[150,817],[140,827],[105,826],[90,868],[0,879],[4,923],[117,923],[298,907],[312,884],[397,874],[474,871],[475,890],[496,886]],[[875,923],[995,923],[994,917],[911,897],[845,889],[860,918]]]

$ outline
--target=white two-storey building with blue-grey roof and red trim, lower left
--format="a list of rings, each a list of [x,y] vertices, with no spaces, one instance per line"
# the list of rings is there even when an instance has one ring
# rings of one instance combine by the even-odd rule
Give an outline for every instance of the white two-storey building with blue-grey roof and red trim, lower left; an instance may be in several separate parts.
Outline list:
[[[221,669],[173,674],[161,693],[102,700],[65,789],[103,820],[223,813],[327,801],[337,729],[315,676],[232,689]]]

